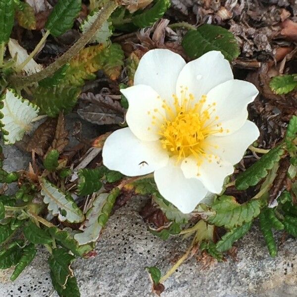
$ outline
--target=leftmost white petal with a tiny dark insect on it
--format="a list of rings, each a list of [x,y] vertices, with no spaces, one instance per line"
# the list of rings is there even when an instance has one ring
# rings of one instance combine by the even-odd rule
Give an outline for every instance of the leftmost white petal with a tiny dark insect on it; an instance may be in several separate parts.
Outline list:
[[[129,128],[117,130],[106,139],[102,158],[108,169],[127,176],[148,174],[168,163],[168,155],[158,141],[141,141]]]

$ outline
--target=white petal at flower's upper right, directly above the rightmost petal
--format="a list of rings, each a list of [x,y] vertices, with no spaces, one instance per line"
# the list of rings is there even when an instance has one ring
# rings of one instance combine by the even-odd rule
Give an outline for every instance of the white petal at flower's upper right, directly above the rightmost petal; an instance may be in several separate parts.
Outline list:
[[[258,95],[257,88],[246,81],[230,80],[222,83],[207,94],[206,104],[215,103],[213,116],[218,116],[226,135],[237,131],[247,120],[247,105]],[[229,131],[228,131],[229,130]]]

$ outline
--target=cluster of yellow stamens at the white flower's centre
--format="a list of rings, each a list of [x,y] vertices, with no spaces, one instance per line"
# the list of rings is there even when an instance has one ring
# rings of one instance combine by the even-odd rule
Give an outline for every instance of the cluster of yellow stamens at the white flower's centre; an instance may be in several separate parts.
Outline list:
[[[211,162],[211,148],[217,148],[207,142],[207,137],[224,130],[218,122],[219,117],[214,114],[216,103],[207,104],[205,95],[195,100],[192,94],[187,95],[187,90],[182,89],[180,100],[173,95],[174,103],[171,106],[163,100],[166,117],[159,120],[156,114],[158,110],[153,110],[152,114],[155,115],[152,115],[152,125],[159,126],[161,145],[171,156],[176,156],[180,161],[194,155],[200,165],[202,157],[207,157]]]

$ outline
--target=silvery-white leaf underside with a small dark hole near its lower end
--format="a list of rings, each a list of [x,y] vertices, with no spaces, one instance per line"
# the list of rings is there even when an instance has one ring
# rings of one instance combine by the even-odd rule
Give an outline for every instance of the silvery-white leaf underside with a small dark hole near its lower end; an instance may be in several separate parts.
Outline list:
[[[69,193],[64,194],[45,178],[40,179],[41,195],[48,204],[49,211],[58,215],[61,222],[79,223],[84,220],[82,211],[78,208]]]

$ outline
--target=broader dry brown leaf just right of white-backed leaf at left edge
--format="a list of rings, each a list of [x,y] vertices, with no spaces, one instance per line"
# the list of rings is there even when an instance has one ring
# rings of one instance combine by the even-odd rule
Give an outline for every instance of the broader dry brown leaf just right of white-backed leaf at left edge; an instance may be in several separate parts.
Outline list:
[[[54,138],[56,124],[57,120],[52,118],[42,123],[35,130],[25,149],[27,151],[34,150],[37,154],[43,156]]]

